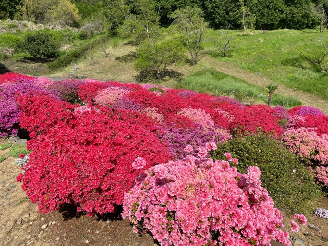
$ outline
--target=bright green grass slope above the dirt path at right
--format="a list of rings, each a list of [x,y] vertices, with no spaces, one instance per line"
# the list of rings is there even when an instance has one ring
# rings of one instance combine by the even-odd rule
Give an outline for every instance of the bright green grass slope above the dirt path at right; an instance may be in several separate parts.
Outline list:
[[[229,57],[209,55],[222,61],[232,62],[245,70],[260,73],[277,84],[315,94],[328,100],[328,75],[321,73],[308,61],[298,55],[302,49],[318,49],[317,40],[328,38],[328,33],[314,30],[276,30],[255,35],[240,35],[240,31],[230,31],[234,38]],[[210,30],[206,38],[222,38],[220,31]],[[210,42],[204,48],[215,51]]]

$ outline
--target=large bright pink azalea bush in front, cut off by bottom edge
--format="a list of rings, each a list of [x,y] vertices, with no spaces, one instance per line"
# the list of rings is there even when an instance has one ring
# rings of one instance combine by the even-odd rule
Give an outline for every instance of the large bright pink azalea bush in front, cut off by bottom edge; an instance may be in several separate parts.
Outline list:
[[[290,245],[259,168],[240,174],[231,164],[189,155],[151,167],[126,193],[122,215],[165,246]]]

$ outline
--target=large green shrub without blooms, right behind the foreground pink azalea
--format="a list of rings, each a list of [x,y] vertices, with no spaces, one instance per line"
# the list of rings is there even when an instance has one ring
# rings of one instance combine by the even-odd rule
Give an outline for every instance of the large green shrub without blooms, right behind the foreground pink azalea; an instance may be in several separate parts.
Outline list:
[[[281,210],[304,213],[320,194],[311,172],[277,139],[262,134],[234,138],[218,146],[213,158],[222,159],[225,152],[239,159],[241,173],[250,166],[260,168],[262,185]]]

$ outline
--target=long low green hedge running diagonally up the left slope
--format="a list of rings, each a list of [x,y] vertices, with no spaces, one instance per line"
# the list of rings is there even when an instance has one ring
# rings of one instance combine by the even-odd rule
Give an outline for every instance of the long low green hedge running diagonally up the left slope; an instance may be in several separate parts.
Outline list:
[[[107,42],[108,39],[108,35],[96,37],[90,43],[81,46],[75,50],[71,50],[65,55],[58,57],[56,60],[51,61],[51,63],[48,63],[47,66],[52,71],[66,67],[72,62],[75,62],[78,58],[84,56],[88,50],[93,49],[101,43]]]

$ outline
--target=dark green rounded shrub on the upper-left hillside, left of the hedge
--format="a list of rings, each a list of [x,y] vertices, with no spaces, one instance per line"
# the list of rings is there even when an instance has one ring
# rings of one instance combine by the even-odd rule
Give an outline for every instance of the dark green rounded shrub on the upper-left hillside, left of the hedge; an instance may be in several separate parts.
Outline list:
[[[47,31],[28,32],[17,49],[27,52],[33,59],[47,60],[58,55],[60,42]]]

